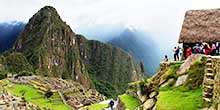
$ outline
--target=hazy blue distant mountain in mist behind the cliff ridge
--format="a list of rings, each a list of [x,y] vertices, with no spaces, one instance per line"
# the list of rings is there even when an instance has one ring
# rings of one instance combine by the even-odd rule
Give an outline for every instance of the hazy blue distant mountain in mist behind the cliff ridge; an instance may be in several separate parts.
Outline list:
[[[145,72],[152,75],[160,62],[158,46],[150,35],[135,28],[126,28],[118,36],[108,41],[109,44],[122,48],[130,53],[138,62],[144,64]]]

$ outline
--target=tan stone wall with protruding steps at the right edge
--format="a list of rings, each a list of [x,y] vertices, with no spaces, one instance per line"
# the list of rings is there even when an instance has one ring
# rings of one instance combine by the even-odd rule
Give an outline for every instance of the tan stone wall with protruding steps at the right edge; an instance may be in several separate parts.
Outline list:
[[[220,110],[220,57],[206,58],[203,99],[212,103],[209,109]]]

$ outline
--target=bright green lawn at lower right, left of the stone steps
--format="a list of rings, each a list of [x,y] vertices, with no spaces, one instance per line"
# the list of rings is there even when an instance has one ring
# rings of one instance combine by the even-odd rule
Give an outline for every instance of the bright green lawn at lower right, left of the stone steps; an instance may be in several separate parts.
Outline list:
[[[198,110],[202,107],[202,90],[187,87],[160,89],[157,110]]]

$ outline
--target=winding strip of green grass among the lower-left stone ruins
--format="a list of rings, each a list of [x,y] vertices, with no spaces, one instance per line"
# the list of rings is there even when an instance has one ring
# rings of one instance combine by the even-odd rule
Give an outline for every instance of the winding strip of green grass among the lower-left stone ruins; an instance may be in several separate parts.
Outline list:
[[[11,94],[16,96],[22,96],[24,93],[24,98],[27,102],[37,105],[40,107],[48,107],[54,110],[71,110],[71,108],[62,102],[52,103],[48,99],[44,98],[43,94],[38,93],[38,91],[32,87],[26,85],[13,85],[12,87],[6,86],[5,89]]]

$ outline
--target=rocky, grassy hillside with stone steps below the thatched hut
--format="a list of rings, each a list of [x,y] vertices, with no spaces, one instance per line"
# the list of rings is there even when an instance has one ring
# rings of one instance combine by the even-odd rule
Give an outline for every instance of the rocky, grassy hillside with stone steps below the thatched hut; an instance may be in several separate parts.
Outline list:
[[[129,84],[127,94],[144,110],[219,110],[219,57],[191,55],[161,62],[152,78]]]

